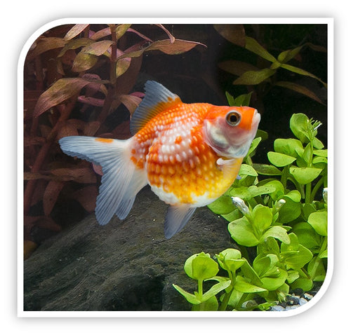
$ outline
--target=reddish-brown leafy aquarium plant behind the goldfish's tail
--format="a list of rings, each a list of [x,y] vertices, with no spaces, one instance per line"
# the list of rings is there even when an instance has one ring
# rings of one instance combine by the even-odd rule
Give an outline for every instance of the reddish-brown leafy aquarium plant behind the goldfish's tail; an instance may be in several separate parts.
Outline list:
[[[58,139],[70,135],[129,137],[128,120],[112,130],[107,121],[121,104],[131,114],[138,107],[143,94],[131,91],[143,55],[155,50],[178,55],[204,46],[176,39],[163,25],[147,27],[156,38],[145,36],[128,24],[62,25],[39,36],[27,53],[25,257],[37,246],[33,231],[60,231],[61,226],[52,215],[60,194],[76,200],[87,212],[95,208],[97,175],[90,163],[75,163],[67,158],[58,147]],[[155,27],[165,35],[164,39],[158,39]]]

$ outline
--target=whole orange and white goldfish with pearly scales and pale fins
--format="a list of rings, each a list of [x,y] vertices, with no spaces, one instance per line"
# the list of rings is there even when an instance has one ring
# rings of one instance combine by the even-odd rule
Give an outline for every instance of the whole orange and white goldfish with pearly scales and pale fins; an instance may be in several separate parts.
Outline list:
[[[105,225],[123,220],[147,184],[168,204],[166,239],[197,207],[218,199],[237,178],[256,136],[260,114],[251,107],[185,104],[156,81],[131,116],[129,139],[69,136],[59,140],[69,156],[102,167],[95,216]]]

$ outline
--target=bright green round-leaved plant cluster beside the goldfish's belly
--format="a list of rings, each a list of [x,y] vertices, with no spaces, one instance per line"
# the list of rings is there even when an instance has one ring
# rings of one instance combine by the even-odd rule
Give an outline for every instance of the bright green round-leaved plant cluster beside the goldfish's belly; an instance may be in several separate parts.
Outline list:
[[[262,139],[256,137],[239,171],[241,178],[208,205],[229,221],[228,231],[240,250],[215,255],[227,275],[208,273],[204,278],[225,283],[213,285],[218,292],[208,290],[211,303],[188,299],[189,294],[175,285],[197,306],[193,310],[267,310],[285,301],[291,290],[309,291],[324,281],[328,161],[327,149],[317,139],[320,125],[305,114],[293,114],[290,128],[296,138],[274,141],[274,151],[267,153],[272,165],[252,162]],[[260,180],[262,176],[265,179]],[[206,264],[200,270],[199,263],[193,262],[196,257],[199,254],[186,263],[192,264],[192,271],[206,272]]]

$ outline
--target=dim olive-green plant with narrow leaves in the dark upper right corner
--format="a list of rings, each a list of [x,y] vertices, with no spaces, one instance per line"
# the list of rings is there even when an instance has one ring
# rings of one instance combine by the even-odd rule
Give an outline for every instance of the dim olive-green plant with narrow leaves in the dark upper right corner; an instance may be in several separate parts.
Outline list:
[[[279,27],[263,25],[260,26],[260,35],[269,34],[270,38],[264,39],[264,36],[260,36],[262,41],[249,36],[246,32],[252,27],[245,28],[244,25],[215,25],[214,27],[227,41],[243,48],[243,50],[238,49],[236,53],[243,54],[242,60],[235,57],[218,64],[220,69],[236,76],[232,85],[246,86],[252,90],[251,92],[254,90],[257,100],[262,100],[274,88],[284,88],[324,104],[321,94],[314,92],[315,88],[310,88],[297,80],[298,77],[311,78],[312,81],[317,81],[317,86],[322,86],[322,90],[326,88],[326,83],[321,78],[300,67],[303,53],[311,55],[316,52],[326,53],[326,48],[323,46],[306,41],[308,36],[306,27],[301,26],[302,34],[295,39],[299,28],[286,25],[282,28],[286,31],[286,35],[279,39]],[[313,28],[312,25],[310,25],[311,28]],[[289,48],[286,48],[286,43],[290,43]]]

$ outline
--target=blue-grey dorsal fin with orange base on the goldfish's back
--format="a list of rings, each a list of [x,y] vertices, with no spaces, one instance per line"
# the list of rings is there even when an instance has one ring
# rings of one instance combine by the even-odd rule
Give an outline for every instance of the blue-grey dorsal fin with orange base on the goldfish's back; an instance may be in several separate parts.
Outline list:
[[[178,95],[171,93],[157,81],[147,81],[145,83],[145,97],[131,118],[131,134],[135,135],[154,116],[180,102],[182,101]]]

